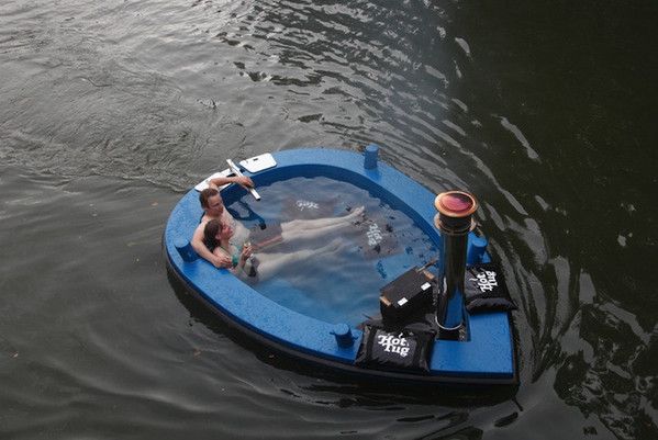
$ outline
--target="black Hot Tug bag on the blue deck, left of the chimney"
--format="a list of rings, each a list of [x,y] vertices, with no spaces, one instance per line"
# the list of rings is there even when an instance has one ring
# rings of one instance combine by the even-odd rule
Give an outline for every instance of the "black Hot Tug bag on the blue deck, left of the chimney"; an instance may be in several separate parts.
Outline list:
[[[378,370],[428,373],[433,342],[434,334],[430,331],[386,331],[381,327],[366,325],[356,364]]]

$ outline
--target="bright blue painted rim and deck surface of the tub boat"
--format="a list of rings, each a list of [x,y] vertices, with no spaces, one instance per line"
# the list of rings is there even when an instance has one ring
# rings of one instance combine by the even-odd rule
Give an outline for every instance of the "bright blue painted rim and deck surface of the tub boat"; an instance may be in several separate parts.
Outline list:
[[[434,227],[435,194],[386,163],[377,162],[375,168],[366,169],[363,155],[317,148],[279,151],[274,156],[276,168],[245,174],[257,185],[294,177],[324,176],[367,189],[391,207],[404,212],[440,249],[440,236]],[[244,190],[237,185],[222,191],[226,204],[243,194]],[[236,324],[274,342],[319,359],[352,365],[363,336],[360,330],[352,329],[356,338],[354,345],[341,347],[334,336],[335,324],[280,306],[227,270],[216,269],[203,259],[182,259],[177,245],[180,247],[181,242],[191,239],[202,214],[199,193],[192,189],[176,205],[165,229],[169,261],[187,284]],[[469,240],[477,241],[477,237],[471,234]],[[483,259],[488,260],[486,252]],[[381,269],[386,270],[383,263]],[[472,315],[468,323],[469,341],[435,342],[430,364],[432,375],[459,377],[465,382],[469,379],[512,379],[515,365],[508,313]]]

